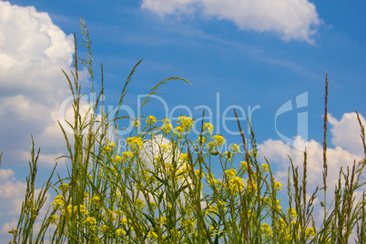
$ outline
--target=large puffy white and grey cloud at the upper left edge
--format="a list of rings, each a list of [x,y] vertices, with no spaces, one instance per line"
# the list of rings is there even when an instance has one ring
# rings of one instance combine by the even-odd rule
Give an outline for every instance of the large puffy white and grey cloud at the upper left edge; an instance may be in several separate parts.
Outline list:
[[[45,161],[62,153],[65,145],[53,115],[69,93],[61,68],[69,70],[73,53],[73,36],[66,36],[47,13],[0,1],[0,148],[4,166],[29,159],[31,134],[36,146],[42,147]],[[48,164],[53,165],[54,160]]]

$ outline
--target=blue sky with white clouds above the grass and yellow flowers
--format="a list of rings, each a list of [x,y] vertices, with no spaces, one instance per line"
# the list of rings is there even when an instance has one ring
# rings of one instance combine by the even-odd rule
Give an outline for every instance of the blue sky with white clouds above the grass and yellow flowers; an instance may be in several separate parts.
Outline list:
[[[173,117],[188,115],[189,110],[198,119],[202,109],[196,107],[207,106],[216,132],[232,143],[241,139],[230,132],[237,131],[236,123],[223,126],[222,117],[233,117],[231,109],[227,115],[224,111],[241,107],[243,117],[252,111],[261,153],[273,160],[279,177],[281,169],[289,166],[286,155],[296,158],[302,154],[296,145],[303,148],[306,142],[312,169],[320,173],[328,71],[328,139],[334,172],[362,158],[354,112],[366,115],[365,1],[29,0],[0,4],[1,235],[7,235],[5,227],[16,216],[13,206],[23,198],[30,135],[41,147],[42,173],[49,172],[54,158],[65,152],[56,126],[59,107],[69,96],[60,68],[71,68],[71,35],[75,32],[81,40],[79,16],[90,30],[94,66],[102,62],[105,68],[108,105],[117,105],[129,71],[144,58],[128,90],[126,105],[135,112],[139,95],[164,78],[180,76],[192,85],[173,81],[160,87],[159,97]],[[87,93],[87,77],[83,85]],[[300,95],[305,96],[301,98],[305,106],[297,108]],[[276,117],[288,101],[292,109]],[[145,115],[167,116],[158,99],[147,108]],[[300,113],[307,115],[306,123],[299,124]],[[249,136],[246,121],[242,124]],[[306,127],[306,135],[298,135],[298,125]],[[301,136],[296,145],[289,145],[296,136]],[[300,165],[300,156],[297,159]]]

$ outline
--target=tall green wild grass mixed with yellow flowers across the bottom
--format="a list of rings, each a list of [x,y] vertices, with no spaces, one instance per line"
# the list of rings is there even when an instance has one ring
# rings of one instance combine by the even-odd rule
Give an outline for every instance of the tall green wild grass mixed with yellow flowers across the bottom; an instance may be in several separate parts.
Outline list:
[[[352,231],[357,234],[357,243],[365,243],[365,191],[357,201],[354,195],[365,184],[361,178],[365,159],[354,162],[352,168],[341,168],[332,204],[327,204],[328,74],[323,187],[307,197],[308,152],[304,152],[302,176],[289,158],[290,207],[284,209],[278,197],[282,186],[269,161],[259,163],[250,124],[250,138],[246,138],[238,119],[243,148],[233,145],[221,152],[225,138],[213,135],[213,126],[203,119],[198,137],[189,134],[194,123],[190,117],[179,117],[176,127],[168,118],[158,121],[153,116],[116,116],[108,120],[108,114],[100,108],[105,92],[103,66],[96,93],[91,42],[82,20],[81,28],[86,58],[77,56],[75,36],[74,71],[71,76],[64,72],[74,98],[75,115],[66,123],[74,133],[70,136],[59,123],[66,140],[68,176],[60,178],[56,174],[53,183],[55,167],[36,194],[39,150],[36,153],[33,144],[25,200],[17,227],[9,231],[13,235],[10,243],[43,243],[47,239],[51,243],[349,243]],[[127,86],[140,62],[122,87],[118,108],[124,103]],[[86,66],[96,95],[85,116],[81,114],[79,65]],[[169,80],[178,79],[186,81],[170,77],[154,86],[149,96],[158,93],[158,87]],[[134,130],[127,138],[126,150],[120,150],[107,131],[120,129],[117,122],[126,121],[133,123]],[[360,117],[359,121],[361,125]],[[362,125],[361,137],[366,156]],[[248,141],[251,150],[246,147]],[[214,165],[219,166],[222,175],[214,176]],[[44,205],[50,188],[56,197],[47,208]],[[324,217],[317,226],[313,209],[321,191]],[[42,208],[47,208],[46,217],[38,220]],[[34,228],[36,221],[42,221],[40,229]]]

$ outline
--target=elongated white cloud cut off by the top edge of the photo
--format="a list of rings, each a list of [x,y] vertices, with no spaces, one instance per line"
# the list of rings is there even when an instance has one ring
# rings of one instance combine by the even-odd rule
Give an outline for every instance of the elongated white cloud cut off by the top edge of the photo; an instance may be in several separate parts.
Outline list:
[[[141,8],[158,15],[202,13],[234,22],[240,30],[276,32],[283,40],[310,44],[321,24],[315,5],[308,0],[143,0]]]

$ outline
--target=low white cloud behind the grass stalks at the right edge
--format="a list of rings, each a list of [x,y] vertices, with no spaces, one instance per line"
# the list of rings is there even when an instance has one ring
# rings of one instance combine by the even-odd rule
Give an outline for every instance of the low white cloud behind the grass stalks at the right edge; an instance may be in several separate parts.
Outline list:
[[[364,118],[361,117],[364,123]],[[365,156],[363,150],[359,147],[362,145],[360,137],[360,125],[358,124],[355,113],[345,113],[341,120],[329,115],[330,122],[330,134],[329,138],[335,146],[334,148],[327,148],[327,164],[328,164],[328,177],[327,177],[327,198],[328,204],[334,197],[334,188],[338,185],[338,179],[340,176],[340,170],[346,172],[347,167],[352,168],[353,162],[357,163],[361,161]],[[342,141],[341,138],[344,140]],[[323,187],[323,146],[322,142],[315,140],[306,141],[302,138],[298,138],[296,145],[298,148],[304,148],[307,145],[308,157],[307,157],[307,189],[308,194],[311,194],[316,187]],[[301,145],[300,145],[301,144]],[[330,143],[328,144],[330,145]],[[282,140],[269,139],[259,145],[260,157],[266,157],[269,160],[272,168],[276,168],[275,176],[283,186],[287,187],[288,168],[290,167],[290,158],[296,167],[299,167],[299,175],[302,178],[302,168],[304,161],[304,153],[296,147],[290,147]],[[290,156],[290,158],[289,158]],[[366,176],[365,172],[362,173],[362,178]],[[344,182],[344,181],[342,181]],[[284,188],[286,188],[284,187]],[[361,189],[362,190],[362,189]],[[361,198],[361,191],[355,192],[356,202]],[[308,196],[309,197],[309,196]],[[323,192],[318,192],[318,201],[322,200]],[[308,198],[309,199],[309,198]],[[314,216],[318,216],[316,221],[321,222],[323,214],[321,214],[322,208],[320,204],[315,202]]]

